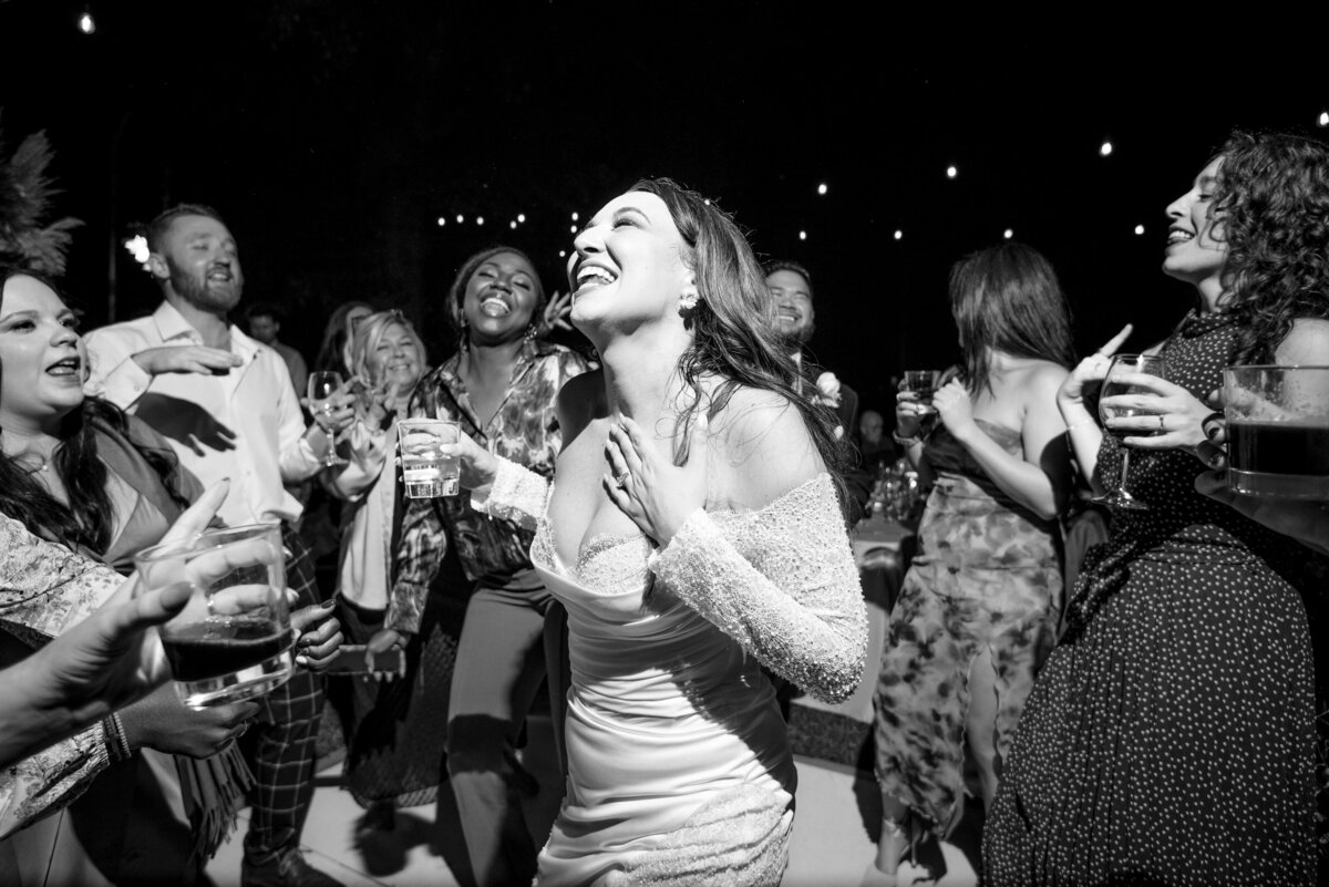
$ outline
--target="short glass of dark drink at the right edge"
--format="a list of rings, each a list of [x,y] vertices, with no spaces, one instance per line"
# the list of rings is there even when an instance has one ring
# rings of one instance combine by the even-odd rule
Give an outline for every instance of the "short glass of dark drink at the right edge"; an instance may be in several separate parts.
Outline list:
[[[1223,404],[1235,493],[1329,501],[1329,366],[1228,366]]]

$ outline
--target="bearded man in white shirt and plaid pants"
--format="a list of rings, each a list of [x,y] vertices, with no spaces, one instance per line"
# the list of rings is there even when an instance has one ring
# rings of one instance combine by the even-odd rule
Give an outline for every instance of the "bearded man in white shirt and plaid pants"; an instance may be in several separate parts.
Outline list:
[[[308,548],[291,528],[302,506],[283,483],[319,471],[331,436],[351,421],[351,398],[306,429],[286,364],[227,320],[245,278],[235,239],[215,210],[181,204],[162,212],[149,226],[148,246],[163,301],[148,317],[88,335],[86,392],[161,432],[205,487],[230,478],[218,510],[227,526],[280,522],[296,605],[319,604]],[[262,700],[250,730],[255,789],[241,872],[247,887],[339,884],[299,850],[322,713],[323,679],[299,668]]]

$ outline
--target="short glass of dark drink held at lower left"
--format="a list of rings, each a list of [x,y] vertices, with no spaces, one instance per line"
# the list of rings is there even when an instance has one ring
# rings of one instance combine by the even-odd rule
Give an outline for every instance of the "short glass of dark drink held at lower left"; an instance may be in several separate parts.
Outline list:
[[[190,586],[185,608],[158,629],[185,705],[237,702],[291,677],[295,637],[280,524],[209,530],[144,548],[134,567],[137,594]],[[199,584],[205,576],[217,578]]]

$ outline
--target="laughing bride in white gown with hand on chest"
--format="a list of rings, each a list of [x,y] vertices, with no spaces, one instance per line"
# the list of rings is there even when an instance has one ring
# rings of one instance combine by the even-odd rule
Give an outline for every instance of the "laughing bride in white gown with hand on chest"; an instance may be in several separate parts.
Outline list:
[[[537,883],[777,884],[795,769],[762,669],[843,700],[867,647],[836,421],[699,194],[638,182],[574,247],[571,321],[603,366],[560,394],[557,483],[455,447],[567,608],[567,795]]]

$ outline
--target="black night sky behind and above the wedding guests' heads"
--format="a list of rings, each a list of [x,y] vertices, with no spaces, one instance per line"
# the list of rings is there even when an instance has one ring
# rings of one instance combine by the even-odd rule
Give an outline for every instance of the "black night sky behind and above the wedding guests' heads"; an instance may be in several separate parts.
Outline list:
[[[948,268],[1005,228],[1058,268],[1083,349],[1171,327],[1191,293],[1158,270],[1164,207],[1233,126],[1326,134],[1316,29],[1261,11],[1268,37],[1199,9],[0,0],[0,129],[9,151],[51,138],[90,325],[112,296],[117,319],[157,304],[120,246],[133,224],[203,202],[239,240],[246,301],[282,305],[310,359],[363,299],[403,307],[437,361],[469,252],[512,243],[563,289],[570,214],[671,175],[759,258],[812,270],[813,351],[880,409],[890,373],[954,359]]]

